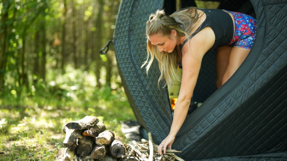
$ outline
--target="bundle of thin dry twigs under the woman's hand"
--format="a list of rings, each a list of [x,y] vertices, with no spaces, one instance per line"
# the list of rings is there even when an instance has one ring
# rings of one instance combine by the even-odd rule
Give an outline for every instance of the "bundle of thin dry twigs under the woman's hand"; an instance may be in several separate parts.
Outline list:
[[[181,151],[167,149],[166,153],[158,155],[158,145],[153,143],[153,139],[150,133],[148,133],[148,140],[142,139],[141,142],[132,141],[132,144],[124,144],[127,150],[127,154],[122,158],[125,161],[183,161],[180,157],[174,153],[180,153]]]

